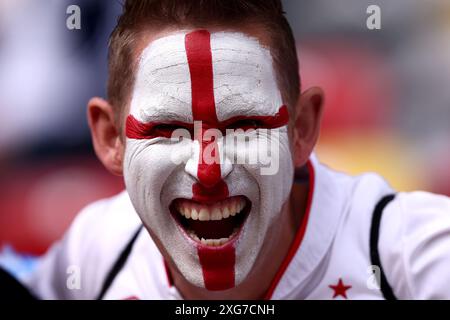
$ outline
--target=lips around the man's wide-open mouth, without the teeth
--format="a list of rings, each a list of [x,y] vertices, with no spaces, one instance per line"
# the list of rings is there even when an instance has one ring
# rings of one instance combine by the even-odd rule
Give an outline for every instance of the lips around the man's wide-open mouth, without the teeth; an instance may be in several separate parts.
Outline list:
[[[194,245],[198,249],[223,250],[223,249],[229,248],[230,246],[234,246],[235,242],[237,241],[237,239],[239,238],[239,236],[240,236],[240,234],[242,232],[242,229],[244,228],[244,225],[247,222],[248,217],[250,216],[252,203],[246,196],[244,196],[244,195],[240,195],[240,196],[244,197],[246,204],[245,204],[245,207],[242,210],[242,212],[239,213],[239,214],[240,215],[245,215],[245,217],[243,218],[243,221],[242,221],[242,223],[239,226],[239,230],[226,243],[224,243],[222,245],[219,245],[219,246],[205,245],[205,244],[202,244],[201,242],[198,242],[198,241],[194,240],[191,236],[189,236],[187,231],[186,231],[186,229],[185,229],[185,227],[181,223],[180,213],[175,208],[175,204],[179,200],[189,200],[191,202],[195,202],[195,203],[198,203],[198,204],[211,205],[211,204],[214,204],[214,203],[218,202],[218,200],[216,200],[216,199],[220,199],[219,201],[223,201],[223,200],[231,199],[231,198],[233,198],[235,196],[232,196],[232,197],[220,197],[220,198],[215,197],[213,200],[205,199],[204,201],[198,201],[198,200],[188,199],[188,198],[177,198],[177,199],[172,200],[172,202],[170,203],[170,205],[169,205],[169,212],[170,212],[170,215],[172,216],[172,218],[175,220],[175,223],[176,223],[178,229],[181,231],[183,236],[186,238],[186,240],[190,244]]]

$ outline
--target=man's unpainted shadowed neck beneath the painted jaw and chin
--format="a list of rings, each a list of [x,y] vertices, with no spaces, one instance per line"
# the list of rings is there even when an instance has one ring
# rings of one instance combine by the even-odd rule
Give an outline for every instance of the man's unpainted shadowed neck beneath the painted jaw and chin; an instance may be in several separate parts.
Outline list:
[[[237,287],[224,291],[208,291],[191,285],[175,267],[169,265],[174,285],[181,295],[185,299],[263,299],[286,258],[303,220],[307,196],[307,184],[293,185],[277,223],[268,230],[272,237],[269,241],[265,241],[253,269]]]

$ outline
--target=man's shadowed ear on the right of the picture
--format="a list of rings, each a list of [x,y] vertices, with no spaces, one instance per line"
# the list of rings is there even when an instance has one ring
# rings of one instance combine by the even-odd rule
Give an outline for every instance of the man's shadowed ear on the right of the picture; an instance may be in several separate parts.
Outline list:
[[[323,100],[323,90],[313,87],[304,91],[297,102],[292,140],[296,168],[306,164],[316,145],[322,119]]]

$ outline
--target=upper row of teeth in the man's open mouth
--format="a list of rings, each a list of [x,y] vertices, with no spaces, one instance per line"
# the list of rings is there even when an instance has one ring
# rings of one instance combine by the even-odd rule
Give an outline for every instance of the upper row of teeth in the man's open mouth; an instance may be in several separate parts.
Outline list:
[[[231,198],[213,205],[204,205],[190,201],[180,201],[178,212],[187,219],[209,221],[226,219],[235,216],[245,207],[242,198]]]

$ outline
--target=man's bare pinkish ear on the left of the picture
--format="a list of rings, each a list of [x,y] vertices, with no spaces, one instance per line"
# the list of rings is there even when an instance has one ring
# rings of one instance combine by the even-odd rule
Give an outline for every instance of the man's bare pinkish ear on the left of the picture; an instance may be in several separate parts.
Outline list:
[[[122,175],[124,144],[116,127],[112,106],[101,98],[92,98],[87,107],[89,128],[95,153],[111,173]]]

